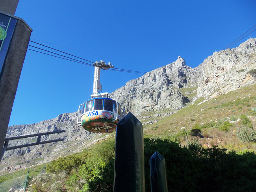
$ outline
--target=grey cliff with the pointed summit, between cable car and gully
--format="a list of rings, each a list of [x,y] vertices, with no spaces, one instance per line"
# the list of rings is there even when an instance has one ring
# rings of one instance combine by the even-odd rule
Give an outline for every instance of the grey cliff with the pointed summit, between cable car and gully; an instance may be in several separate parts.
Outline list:
[[[117,99],[125,111],[139,113],[163,108],[181,109],[188,102],[178,89],[195,84],[200,71],[186,65],[180,56],[168,65],[147,72],[140,78],[128,81],[109,97]]]

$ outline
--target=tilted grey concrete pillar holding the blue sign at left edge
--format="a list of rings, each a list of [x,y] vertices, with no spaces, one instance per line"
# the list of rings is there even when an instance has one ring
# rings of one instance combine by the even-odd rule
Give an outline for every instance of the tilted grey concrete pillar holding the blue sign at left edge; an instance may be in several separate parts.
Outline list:
[[[2,3],[6,2],[18,3],[18,0],[0,0],[0,7],[2,8]],[[14,13],[15,10],[12,9],[12,13]],[[6,15],[6,12],[0,11],[0,13]],[[0,73],[0,155],[2,154],[11,109],[32,32],[32,29],[21,18],[9,14],[7,14],[7,16],[16,19],[17,22],[11,41],[9,45],[7,45],[8,49],[5,57],[0,55],[3,57],[0,58],[0,64],[2,65],[2,71]],[[20,109],[20,113],[22,113],[22,109]]]

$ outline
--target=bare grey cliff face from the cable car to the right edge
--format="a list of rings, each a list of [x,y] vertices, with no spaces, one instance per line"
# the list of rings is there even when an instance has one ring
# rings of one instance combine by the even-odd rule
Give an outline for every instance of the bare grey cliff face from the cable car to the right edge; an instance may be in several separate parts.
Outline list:
[[[166,108],[177,110],[191,102],[180,88],[198,86],[193,100],[213,98],[254,83],[248,71],[255,68],[256,39],[249,39],[237,48],[213,53],[196,68],[187,66],[179,56],[171,64],[128,81],[109,96],[134,114]]]

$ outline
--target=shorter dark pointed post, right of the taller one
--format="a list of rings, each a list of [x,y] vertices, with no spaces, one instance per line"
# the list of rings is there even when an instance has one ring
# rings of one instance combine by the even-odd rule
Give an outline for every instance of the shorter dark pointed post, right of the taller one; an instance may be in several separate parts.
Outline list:
[[[168,192],[165,158],[156,151],[149,160],[151,192]]]

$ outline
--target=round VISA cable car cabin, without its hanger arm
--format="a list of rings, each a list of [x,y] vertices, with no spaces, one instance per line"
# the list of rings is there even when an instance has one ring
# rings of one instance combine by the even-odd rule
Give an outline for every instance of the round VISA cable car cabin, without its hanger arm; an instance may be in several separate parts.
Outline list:
[[[91,98],[79,106],[77,124],[94,133],[110,133],[123,116],[124,110],[117,100]]]

